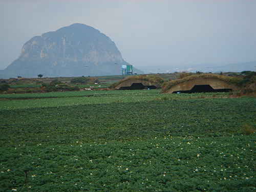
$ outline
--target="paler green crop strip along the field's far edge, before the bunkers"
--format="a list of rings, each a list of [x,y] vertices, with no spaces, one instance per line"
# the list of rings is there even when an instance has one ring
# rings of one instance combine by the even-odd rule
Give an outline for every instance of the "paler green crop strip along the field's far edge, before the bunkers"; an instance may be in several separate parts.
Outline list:
[[[112,102],[140,102],[152,100],[195,99],[222,97],[223,93],[159,94],[159,90],[78,91],[37,94],[0,95],[0,110],[101,104]],[[11,100],[9,100],[11,99]],[[22,99],[22,100],[20,100]]]

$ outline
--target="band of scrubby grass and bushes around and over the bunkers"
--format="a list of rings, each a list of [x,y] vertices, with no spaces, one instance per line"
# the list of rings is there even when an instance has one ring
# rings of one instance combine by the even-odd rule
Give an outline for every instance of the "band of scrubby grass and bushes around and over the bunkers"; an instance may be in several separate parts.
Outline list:
[[[78,88],[93,88],[94,90],[114,90],[118,84],[130,80],[141,79],[150,82],[157,82],[158,89],[164,92],[178,83],[198,78],[215,78],[231,83],[240,88],[233,97],[241,96],[256,96],[256,72],[244,71],[242,73],[226,73],[226,74],[211,74],[211,73],[169,73],[169,74],[151,74],[151,75],[117,75],[117,76],[98,76],[96,77],[56,77],[56,78],[10,78],[0,79],[0,93],[41,93],[42,83],[50,84],[52,81],[57,80],[66,83],[67,86],[76,86]],[[100,86],[95,86],[95,83]],[[8,87],[8,85],[10,87]],[[75,89],[74,89],[75,90]],[[80,89],[82,90],[82,89]],[[83,89],[84,90],[84,89]],[[54,91],[54,90],[53,90]],[[69,89],[62,91],[70,91]]]

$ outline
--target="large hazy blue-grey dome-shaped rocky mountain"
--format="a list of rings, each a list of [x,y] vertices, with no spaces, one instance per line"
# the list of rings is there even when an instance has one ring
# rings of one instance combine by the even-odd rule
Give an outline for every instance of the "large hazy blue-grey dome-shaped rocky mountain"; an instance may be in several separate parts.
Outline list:
[[[120,75],[122,65],[129,63],[108,36],[93,27],[73,24],[31,38],[18,59],[1,71],[1,77]]]

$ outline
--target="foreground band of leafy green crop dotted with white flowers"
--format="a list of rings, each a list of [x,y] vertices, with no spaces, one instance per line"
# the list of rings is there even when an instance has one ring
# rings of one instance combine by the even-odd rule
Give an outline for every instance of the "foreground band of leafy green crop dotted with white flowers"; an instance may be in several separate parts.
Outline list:
[[[187,136],[0,148],[0,191],[20,190],[24,170],[24,191],[255,191],[255,143]]]

